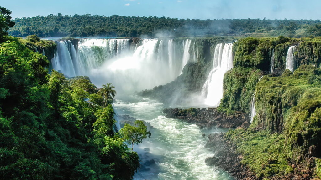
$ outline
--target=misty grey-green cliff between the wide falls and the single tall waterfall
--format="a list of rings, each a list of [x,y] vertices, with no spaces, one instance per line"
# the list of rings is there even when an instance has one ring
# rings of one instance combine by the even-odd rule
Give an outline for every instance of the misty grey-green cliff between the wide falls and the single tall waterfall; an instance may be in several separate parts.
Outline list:
[[[186,38],[177,38],[183,40]],[[190,47],[190,54],[195,53],[196,61],[188,61],[183,73],[174,81],[151,90],[144,90],[140,95],[159,99],[162,102],[182,102],[188,95],[200,92],[209,72],[213,66],[214,50],[219,43],[230,43],[235,39],[223,37],[190,38],[193,47]]]

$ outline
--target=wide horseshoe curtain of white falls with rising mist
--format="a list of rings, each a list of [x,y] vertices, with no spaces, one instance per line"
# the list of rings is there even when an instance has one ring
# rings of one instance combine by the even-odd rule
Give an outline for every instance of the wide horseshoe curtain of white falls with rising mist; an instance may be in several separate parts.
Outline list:
[[[53,69],[66,76],[88,76],[100,86],[113,83],[117,91],[141,91],[177,78],[188,61],[190,39],[86,39],[78,41],[78,52],[67,40],[56,41]]]

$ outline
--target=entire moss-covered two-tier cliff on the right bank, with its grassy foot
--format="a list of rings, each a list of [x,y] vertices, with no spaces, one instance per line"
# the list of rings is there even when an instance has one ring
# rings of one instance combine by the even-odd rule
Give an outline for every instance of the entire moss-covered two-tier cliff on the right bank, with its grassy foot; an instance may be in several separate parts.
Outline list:
[[[256,116],[250,128],[229,131],[225,138],[237,147],[235,153],[243,157],[242,166],[251,169],[256,177],[271,178],[274,174],[279,178],[273,176],[272,179],[280,179],[289,173],[293,178],[320,176],[320,159],[317,158],[321,155],[319,41],[246,38],[234,44],[234,69],[225,74],[220,109],[249,112],[255,95]],[[285,70],[290,45],[296,45],[294,73]],[[270,70],[272,55],[273,73]],[[260,132],[281,139],[269,142],[261,138]],[[271,148],[253,147],[260,144],[279,148],[269,154]],[[287,161],[293,171],[289,171]]]

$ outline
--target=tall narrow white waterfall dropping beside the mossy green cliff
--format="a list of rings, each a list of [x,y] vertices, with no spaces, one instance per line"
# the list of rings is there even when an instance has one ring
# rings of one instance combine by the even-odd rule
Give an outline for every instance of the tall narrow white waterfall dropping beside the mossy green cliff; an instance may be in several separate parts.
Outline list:
[[[233,68],[232,43],[218,44],[214,50],[213,67],[202,87],[205,104],[220,105],[223,97],[223,78],[226,71]]]

